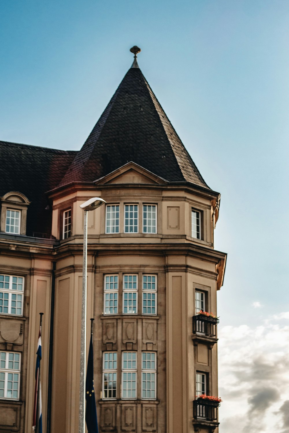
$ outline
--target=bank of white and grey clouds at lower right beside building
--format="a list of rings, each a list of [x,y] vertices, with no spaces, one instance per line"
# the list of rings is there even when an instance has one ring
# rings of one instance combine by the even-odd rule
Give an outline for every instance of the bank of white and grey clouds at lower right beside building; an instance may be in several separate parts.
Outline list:
[[[262,325],[218,330],[220,433],[289,432],[289,326]]]

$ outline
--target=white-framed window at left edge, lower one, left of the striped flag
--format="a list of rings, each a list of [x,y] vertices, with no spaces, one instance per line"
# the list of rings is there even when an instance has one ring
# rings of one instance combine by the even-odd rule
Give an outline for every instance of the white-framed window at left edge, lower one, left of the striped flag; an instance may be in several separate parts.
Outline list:
[[[0,398],[19,400],[20,353],[0,352]]]

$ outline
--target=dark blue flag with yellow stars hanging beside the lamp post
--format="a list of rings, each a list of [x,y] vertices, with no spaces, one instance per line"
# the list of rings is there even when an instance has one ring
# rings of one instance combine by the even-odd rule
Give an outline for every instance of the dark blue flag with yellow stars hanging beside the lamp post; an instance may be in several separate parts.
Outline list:
[[[88,433],[98,433],[96,405],[93,387],[93,347],[92,347],[92,333],[90,337],[90,345],[88,352],[88,365],[85,382],[85,421],[88,428]]]

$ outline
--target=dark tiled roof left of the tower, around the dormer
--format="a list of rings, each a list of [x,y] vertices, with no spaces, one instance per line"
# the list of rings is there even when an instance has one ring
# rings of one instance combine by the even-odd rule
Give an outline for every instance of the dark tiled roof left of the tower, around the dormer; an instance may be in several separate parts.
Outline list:
[[[51,234],[52,210],[45,209],[45,192],[55,188],[77,152],[47,149],[0,141],[0,197],[19,191],[31,203],[27,209],[26,234]]]

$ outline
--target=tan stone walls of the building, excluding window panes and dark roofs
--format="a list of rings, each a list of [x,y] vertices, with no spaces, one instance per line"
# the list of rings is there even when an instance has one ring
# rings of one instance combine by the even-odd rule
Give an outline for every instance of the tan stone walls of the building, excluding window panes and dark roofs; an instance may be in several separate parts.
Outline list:
[[[9,193],[10,191],[6,191]],[[21,191],[19,191],[21,193]],[[45,192],[45,191],[44,191]],[[54,433],[78,432],[83,211],[91,197],[119,206],[119,233],[106,233],[106,206],[88,213],[88,329],[94,317],[94,389],[100,432],[218,432],[217,420],[195,417],[196,373],[206,393],[218,395],[217,338],[195,332],[195,291],[205,309],[217,314],[226,255],[214,250],[220,196],[190,182],[166,181],[129,162],[96,182],[73,182],[47,194],[52,209],[51,239],[0,233],[0,274],[24,278],[23,315],[0,313],[0,351],[21,354],[19,398],[0,398],[0,432],[29,432],[34,369],[42,324],[42,416],[46,431],[49,350],[53,348]],[[29,200],[29,196],[27,196]],[[26,201],[25,209],[29,202]],[[124,231],[124,207],[138,206],[138,228]],[[143,233],[143,205],[157,210],[156,233]],[[71,210],[69,236],[63,215]],[[192,237],[192,210],[201,219],[200,239]],[[6,206],[1,220],[5,220]],[[3,225],[3,224],[2,224]],[[53,265],[55,264],[55,265]],[[55,268],[55,270],[54,270]],[[117,312],[104,311],[104,277],[118,277]],[[135,310],[123,313],[124,275],[136,275]],[[143,275],[156,278],[157,310],[143,310]],[[52,284],[55,278],[53,347],[49,347]],[[89,336],[88,341],[89,343]],[[123,353],[136,353],[135,397],[123,397]],[[116,353],[116,388],[105,398],[104,353]],[[142,354],[156,356],[156,396],[144,398]]]

